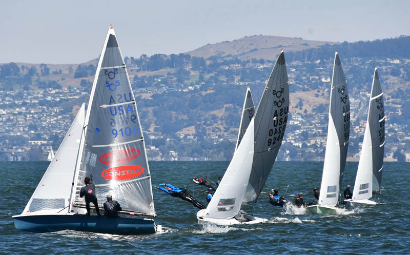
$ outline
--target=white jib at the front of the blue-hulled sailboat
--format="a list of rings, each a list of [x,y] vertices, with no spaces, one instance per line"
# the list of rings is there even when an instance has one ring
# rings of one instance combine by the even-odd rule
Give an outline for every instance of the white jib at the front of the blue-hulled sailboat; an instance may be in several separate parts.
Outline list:
[[[56,213],[69,205],[84,108],[83,104],[22,214]]]

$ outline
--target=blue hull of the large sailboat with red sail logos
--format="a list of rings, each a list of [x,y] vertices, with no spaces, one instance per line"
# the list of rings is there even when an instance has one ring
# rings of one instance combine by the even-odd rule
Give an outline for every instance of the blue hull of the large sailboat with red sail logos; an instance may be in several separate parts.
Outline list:
[[[43,233],[60,230],[89,231],[109,234],[155,233],[154,220],[134,217],[114,219],[101,216],[87,217],[83,214],[24,215],[13,217],[14,226],[19,230]]]

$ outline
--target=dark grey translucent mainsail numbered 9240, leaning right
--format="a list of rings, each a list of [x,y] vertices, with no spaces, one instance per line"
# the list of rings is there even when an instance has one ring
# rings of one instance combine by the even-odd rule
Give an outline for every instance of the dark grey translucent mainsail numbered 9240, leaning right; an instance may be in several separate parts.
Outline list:
[[[289,83],[283,50],[263,91],[255,116],[255,149],[252,172],[242,204],[257,201],[285,133],[289,115]]]

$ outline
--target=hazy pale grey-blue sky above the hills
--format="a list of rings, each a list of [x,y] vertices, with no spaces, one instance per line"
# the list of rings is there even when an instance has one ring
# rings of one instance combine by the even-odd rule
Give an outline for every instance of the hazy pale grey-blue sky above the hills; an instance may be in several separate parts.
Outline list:
[[[410,1],[2,1],[0,63],[83,63],[110,24],[124,56],[263,34],[332,42],[410,35]]]

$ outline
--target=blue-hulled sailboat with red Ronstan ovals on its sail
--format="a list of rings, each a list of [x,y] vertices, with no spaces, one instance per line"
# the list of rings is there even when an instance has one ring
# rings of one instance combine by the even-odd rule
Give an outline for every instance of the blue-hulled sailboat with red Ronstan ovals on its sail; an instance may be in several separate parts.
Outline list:
[[[56,158],[23,213],[13,216],[17,229],[112,234],[161,230],[154,222],[151,175],[136,102],[111,26],[101,51],[87,114],[84,117],[83,106]],[[122,207],[120,217],[85,215],[85,201],[79,198],[79,191],[90,175],[96,183],[100,210],[110,193]]]

